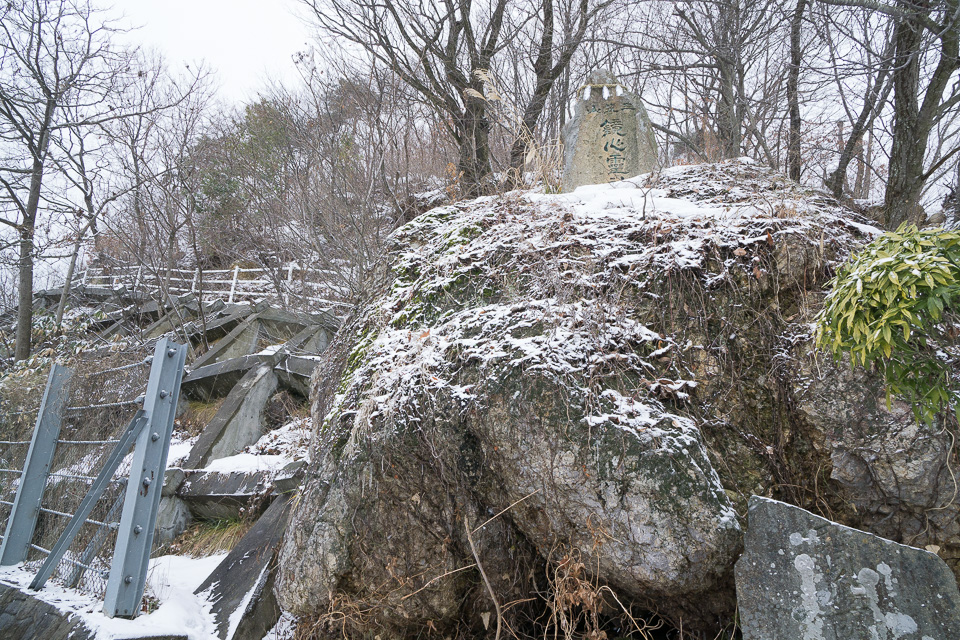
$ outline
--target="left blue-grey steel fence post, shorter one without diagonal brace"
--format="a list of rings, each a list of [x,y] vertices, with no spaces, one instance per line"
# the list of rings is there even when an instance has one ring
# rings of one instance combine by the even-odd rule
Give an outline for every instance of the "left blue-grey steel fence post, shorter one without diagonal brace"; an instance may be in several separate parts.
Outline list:
[[[0,565],[18,564],[27,559],[27,549],[40,515],[40,501],[50,473],[50,464],[57,449],[63,410],[67,406],[68,388],[73,370],[54,364],[43,392],[37,425],[30,440],[30,449],[17,487],[17,497],[10,508],[10,519],[0,546]]]

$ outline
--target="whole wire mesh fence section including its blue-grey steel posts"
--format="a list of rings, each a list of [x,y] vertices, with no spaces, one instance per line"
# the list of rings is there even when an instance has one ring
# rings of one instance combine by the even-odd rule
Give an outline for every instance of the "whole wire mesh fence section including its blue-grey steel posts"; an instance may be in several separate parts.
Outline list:
[[[34,572],[31,589],[52,579],[102,597],[109,616],[141,610],[187,348],[163,337],[146,353],[54,364],[38,409],[6,384],[0,399],[0,488],[14,496],[0,564]]]

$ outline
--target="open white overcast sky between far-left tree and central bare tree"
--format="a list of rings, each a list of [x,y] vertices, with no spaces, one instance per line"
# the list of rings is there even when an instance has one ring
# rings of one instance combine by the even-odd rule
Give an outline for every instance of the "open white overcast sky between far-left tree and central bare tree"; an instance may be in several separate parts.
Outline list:
[[[139,29],[126,39],[161,52],[171,67],[205,60],[218,96],[254,100],[270,80],[294,80],[292,56],[311,29],[295,0],[107,0],[110,13]]]

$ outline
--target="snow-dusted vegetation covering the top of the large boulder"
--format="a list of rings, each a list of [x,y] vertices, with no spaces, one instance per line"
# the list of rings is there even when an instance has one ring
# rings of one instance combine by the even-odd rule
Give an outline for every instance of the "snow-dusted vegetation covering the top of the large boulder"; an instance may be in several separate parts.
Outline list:
[[[467,407],[476,386],[455,380],[466,362],[490,378],[518,366],[566,378],[622,369],[643,372],[651,397],[608,389],[585,423],[652,427],[668,415],[657,398],[683,400],[696,388],[692,371],[662,371],[671,352],[694,345],[651,330],[628,310],[633,300],[615,297],[627,291],[645,309],[678,302],[661,299],[656,279],[648,286],[651,273],[694,274],[707,289],[745,280],[767,286],[767,250],[780,278],[802,278],[817,249],[810,238],[843,257],[859,244],[854,238],[879,233],[748,158],[571,194],[513,192],[440,207],[396,234],[397,279],[376,309],[382,330],[367,328],[354,357],[367,359],[344,393],[373,384],[381,391],[371,411],[396,411],[429,369],[427,386],[448,388]],[[539,331],[544,325],[551,330]]]

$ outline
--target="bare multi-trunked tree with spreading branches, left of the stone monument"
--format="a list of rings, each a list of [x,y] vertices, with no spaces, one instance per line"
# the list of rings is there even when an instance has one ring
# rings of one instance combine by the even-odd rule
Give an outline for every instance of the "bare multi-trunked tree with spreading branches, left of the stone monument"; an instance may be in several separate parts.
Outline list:
[[[327,34],[364,52],[371,65],[390,69],[443,119],[459,150],[457,167],[467,194],[489,188],[491,122],[477,72],[515,70],[532,78],[517,104],[522,126],[533,131],[547,96],[567,69],[587,26],[610,0],[303,0]],[[511,42],[530,44],[528,57],[499,64]],[[355,51],[350,52],[355,55]],[[503,80],[503,79],[501,79]],[[516,86],[513,78],[503,82]],[[523,136],[510,143],[518,169]]]

